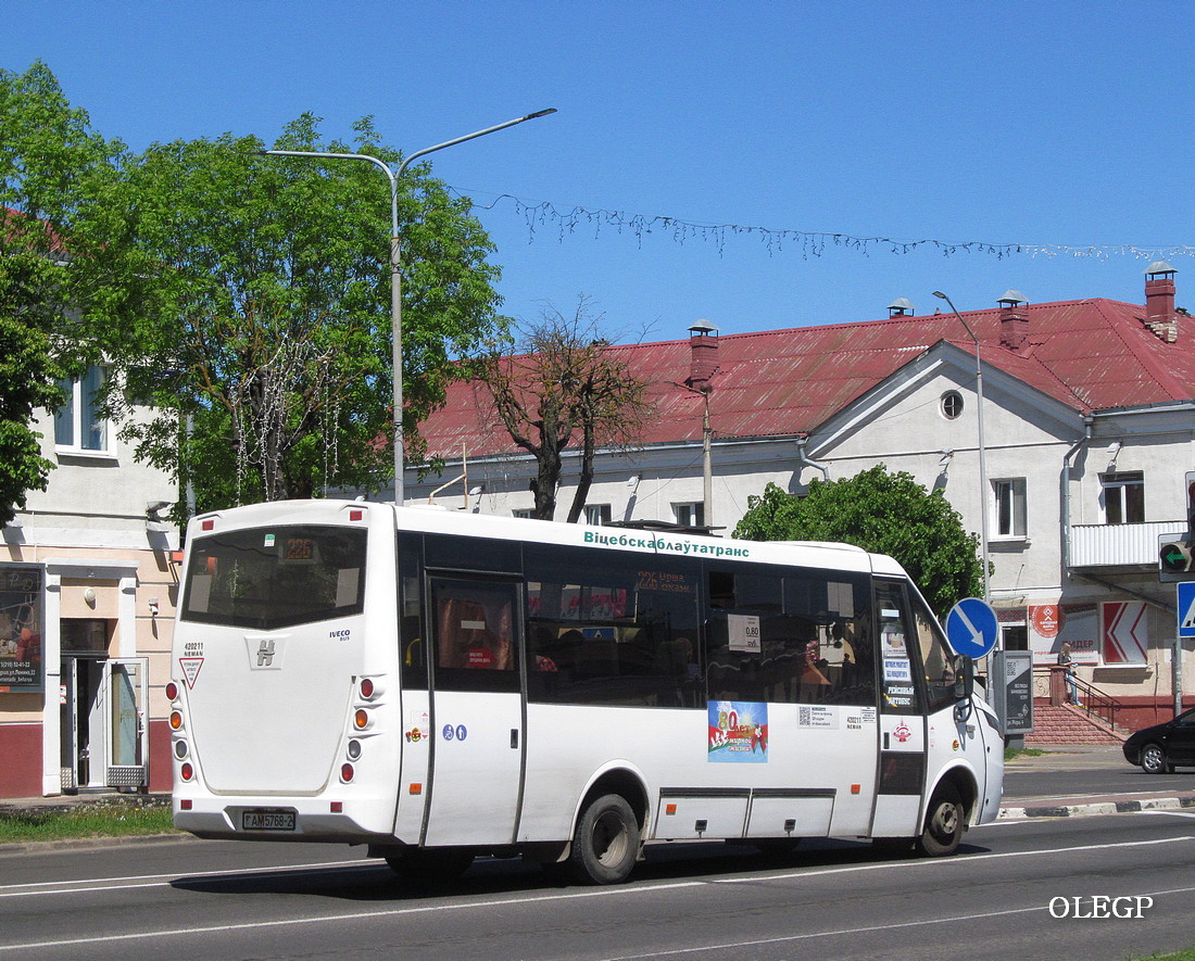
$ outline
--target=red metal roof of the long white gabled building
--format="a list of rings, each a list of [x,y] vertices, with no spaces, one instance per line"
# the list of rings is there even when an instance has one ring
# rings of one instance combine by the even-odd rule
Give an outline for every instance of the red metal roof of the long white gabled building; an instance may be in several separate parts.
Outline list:
[[[1019,350],[1000,344],[1000,309],[963,316],[985,366],[1024,381],[1079,412],[1195,398],[1195,318],[1177,314],[1176,343],[1144,322],[1145,308],[1103,298],[1018,308],[1028,316]],[[954,314],[795,327],[718,338],[710,415],[718,437],[789,437],[815,430],[939,340],[974,352]],[[699,395],[684,389],[690,341],[611,347],[652,387],[657,413],[644,444],[698,441]],[[483,384],[458,383],[421,426],[429,454],[471,457],[516,450]]]

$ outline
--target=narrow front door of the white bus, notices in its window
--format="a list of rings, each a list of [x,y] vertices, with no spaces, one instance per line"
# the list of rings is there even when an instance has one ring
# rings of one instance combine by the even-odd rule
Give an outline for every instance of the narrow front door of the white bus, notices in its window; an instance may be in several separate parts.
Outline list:
[[[876,581],[880,627],[880,768],[872,837],[920,833],[925,716],[917,682],[917,635],[905,584]]]

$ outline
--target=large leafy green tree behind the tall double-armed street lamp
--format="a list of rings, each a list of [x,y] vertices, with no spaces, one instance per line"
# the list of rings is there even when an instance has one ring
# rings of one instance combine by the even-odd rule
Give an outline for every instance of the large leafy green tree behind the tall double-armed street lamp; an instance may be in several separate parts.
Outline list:
[[[276,148],[390,164],[369,119],[355,142],[290,123]],[[139,457],[191,480],[200,510],[378,489],[392,463],[390,191],[370,164],[264,156],[256,137],[153,144],[122,167],[93,269],[110,283],[87,329],[118,375],[114,415]],[[427,164],[400,185],[409,448],[454,361],[502,326],[492,244]],[[111,281],[120,279],[120,284]]]

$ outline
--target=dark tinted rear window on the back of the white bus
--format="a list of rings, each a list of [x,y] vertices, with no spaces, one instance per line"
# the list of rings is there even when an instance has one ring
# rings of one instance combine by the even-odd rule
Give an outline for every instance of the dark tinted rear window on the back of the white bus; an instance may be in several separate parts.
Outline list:
[[[366,531],[256,528],[196,538],[184,621],[270,630],[361,614]]]

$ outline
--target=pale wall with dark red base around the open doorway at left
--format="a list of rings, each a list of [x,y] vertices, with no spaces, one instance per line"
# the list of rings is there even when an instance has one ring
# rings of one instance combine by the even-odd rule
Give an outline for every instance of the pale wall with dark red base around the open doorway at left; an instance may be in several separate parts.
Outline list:
[[[172,504],[176,488],[163,472],[137,463],[111,425],[106,450],[86,452],[56,448],[49,415],[35,426],[42,433],[43,456],[56,469],[48,489],[31,492],[26,510],[4,529],[0,569],[20,565],[41,573],[44,691],[0,689],[0,757],[5,759],[0,796],[56,794],[78,787],[63,774],[78,770],[74,758],[63,758],[63,739],[71,737],[71,717],[63,716],[62,702],[68,696],[63,669],[73,661],[86,690],[97,683],[100,665],[115,658],[146,659],[147,696],[140,706],[140,722],[151,732],[151,787],[163,789],[168,787],[171,768],[168,746],[165,762],[160,757],[161,744],[168,745],[161,689],[168,678],[178,590],[178,532],[151,517],[147,507]],[[93,649],[73,652],[72,639],[87,633],[81,629],[84,622],[93,629],[87,634]],[[84,722],[92,720],[98,727],[98,709]],[[87,733],[103,737],[100,731]]]

